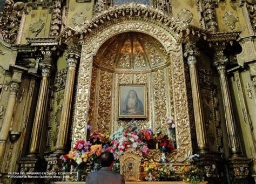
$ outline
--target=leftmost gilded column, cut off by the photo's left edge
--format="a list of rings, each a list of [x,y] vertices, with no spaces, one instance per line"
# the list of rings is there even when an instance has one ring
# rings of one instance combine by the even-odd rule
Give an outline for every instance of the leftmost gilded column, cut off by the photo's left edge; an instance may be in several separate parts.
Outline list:
[[[8,135],[9,135],[12,114],[14,113],[14,106],[16,103],[19,84],[21,83],[21,77],[22,77],[22,71],[14,70],[12,74],[12,80],[11,80],[10,96],[8,99],[8,104],[5,110],[3,125],[0,132],[0,164],[2,163],[2,159],[5,152],[6,140],[8,139]]]

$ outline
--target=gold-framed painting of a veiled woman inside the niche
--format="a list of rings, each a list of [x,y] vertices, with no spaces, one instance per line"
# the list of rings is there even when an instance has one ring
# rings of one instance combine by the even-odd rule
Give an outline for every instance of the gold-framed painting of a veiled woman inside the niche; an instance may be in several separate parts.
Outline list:
[[[146,84],[120,84],[118,118],[147,118]]]

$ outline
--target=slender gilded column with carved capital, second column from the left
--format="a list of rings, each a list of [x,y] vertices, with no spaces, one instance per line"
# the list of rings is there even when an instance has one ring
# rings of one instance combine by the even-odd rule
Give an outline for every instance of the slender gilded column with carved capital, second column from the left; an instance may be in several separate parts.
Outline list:
[[[32,129],[30,149],[29,149],[28,156],[37,156],[39,151],[39,144],[40,144],[40,138],[41,138],[41,133],[43,129],[45,108],[48,101],[50,74],[52,70],[51,60],[52,60],[51,52],[47,52],[47,53],[44,53],[44,59],[42,60],[41,63],[39,63],[42,69],[42,80],[41,80],[39,94],[38,94],[35,118],[33,121],[33,129]]]

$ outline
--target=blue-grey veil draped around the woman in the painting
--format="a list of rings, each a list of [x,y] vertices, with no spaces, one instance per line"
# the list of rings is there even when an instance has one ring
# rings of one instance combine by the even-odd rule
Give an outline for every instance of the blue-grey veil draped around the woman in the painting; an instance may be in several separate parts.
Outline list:
[[[127,113],[127,104],[128,104],[131,92],[134,92],[134,94],[136,96],[135,97],[136,98],[136,103],[134,105],[134,108],[139,111],[139,113],[136,113],[136,114],[143,115],[144,114],[144,108],[143,108],[142,101],[139,100],[139,98],[137,96],[137,92],[134,91],[134,90],[129,91],[129,93],[127,94],[127,97],[125,98],[124,103],[122,103],[122,105],[121,105],[121,115],[131,114],[131,113]]]

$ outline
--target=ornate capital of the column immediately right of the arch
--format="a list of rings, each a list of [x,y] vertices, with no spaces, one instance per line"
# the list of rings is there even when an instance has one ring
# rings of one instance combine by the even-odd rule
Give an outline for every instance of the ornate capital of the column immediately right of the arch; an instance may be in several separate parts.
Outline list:
[[[196,64],[198,56],[199,56],[199,51],[196,46],[196,42],[186,43],[184,57],[187,58],[188,65]]]

